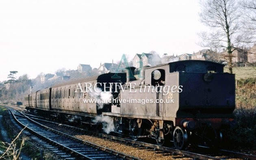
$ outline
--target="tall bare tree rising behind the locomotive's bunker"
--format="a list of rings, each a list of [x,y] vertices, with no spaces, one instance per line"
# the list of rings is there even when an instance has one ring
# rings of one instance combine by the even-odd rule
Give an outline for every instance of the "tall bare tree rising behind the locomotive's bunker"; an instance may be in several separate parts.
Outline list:
[[[210,28],[201,32],[202,47],[216,47],[228,52],[228,68],[232,73],[233,51],[251,42],[250,32],[244,32],[241,23],[241,5],[236,0],[202,0],[200,21]]]

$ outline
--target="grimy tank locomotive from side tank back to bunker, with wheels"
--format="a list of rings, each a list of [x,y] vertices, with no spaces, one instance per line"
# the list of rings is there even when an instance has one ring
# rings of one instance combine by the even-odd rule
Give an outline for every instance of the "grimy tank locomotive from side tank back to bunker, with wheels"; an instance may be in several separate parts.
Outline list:
[[[103,113],[113,117],[116,132],[153,137],[159,145],[173,140],[183,149],[194,140],[216,143],[222,139],[221,128],[236,126],[234,75],[223,73],[222,64],[161,64],[145,68],[145,79],[129,83],[111,113]]]

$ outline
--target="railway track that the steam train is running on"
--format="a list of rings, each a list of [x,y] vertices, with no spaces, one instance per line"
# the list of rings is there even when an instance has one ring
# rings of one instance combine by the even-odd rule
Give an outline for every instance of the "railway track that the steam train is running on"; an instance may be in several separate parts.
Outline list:
[[[69,125],[66,125],[66,124],[59,124],[59,123],[56,123],[56,122],[50,122],[48,120],[39,119],[40,117],[38,117],[38,116],[34,116],[34,115],[28,115],[28,116],[31,116],[31,119],[46,122],[46,123],[51,123],[51,124],[54,124],[56,126],[67,128],[67,129],[70,129],[70,130],[78,130],[80,132],[91,132],[91,131],[88,131],[88,130],[84,130],[82,128],[77,128],[77,127],[69,126]],[[170,147],[161,147],[161,146],[150,144],[150,143],[134,141],[132,139],[116,137],[116,136],[112,136],[112,135],[108,135],[108,134],[102,134],[102,133],[96,133],[96,132],[93,132],[93,134],[94,135],[97,134],[100,137],[112,139],[112,140],[115,140],[115,141],[125,142],[125,143],[129,143],[129,144],[132,144],[132,145],[137,145],[137,146],[140,146],[140,147],[143,146],[143,147],[147,147],[147,148],[151,148],[151,149],[157,149],[157,150],[160,150],[160,151],[163,151],[163,152],[169,152],[169,153],[172,153],[172,154],[175,153],[175,154],[179,154],[179,155],[184,155],[184,156],[188,156],[188,157],[191,157],[191,158],[194,158],[194,159],[202,159],[202,160],[227,159],[227,157],[217,158],[216,156],[209,156],[208,154],[204,155],[204,154],[193,153],[193,152],[190,152],[190,151],[181,151],[181,150],[177,150],[177,149],[170,148]],[[208,148],[208,147],[203,147],[203,146],[198,146],[198,147],[203,148],[203,149],[207,149],[206,152],[209,152],[209,150],[210,150],[210,148]],[[241,159],[246,159],[246,160],[256,160],[256,156],[254,156],[254,155],[243,154],[243,153],[228,151],[228,150],[224,150],[224,149],[215,150],[210,155],[212,155],[212,154],[214,155],[216,153],[218,153],[218,154],[221,153],[225,156],[228,156],[228,158],[241,158]]]

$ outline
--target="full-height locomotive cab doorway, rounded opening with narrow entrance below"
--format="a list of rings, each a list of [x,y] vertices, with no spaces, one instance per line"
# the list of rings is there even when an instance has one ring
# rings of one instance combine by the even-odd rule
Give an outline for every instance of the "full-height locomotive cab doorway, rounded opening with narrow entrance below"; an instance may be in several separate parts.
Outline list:
[[[157,69],[151,74],[151,85],[154,86],[154,94],[156,94],[156,115],[162,116],[163,111],[163,85],[165,84],[165,70]]]

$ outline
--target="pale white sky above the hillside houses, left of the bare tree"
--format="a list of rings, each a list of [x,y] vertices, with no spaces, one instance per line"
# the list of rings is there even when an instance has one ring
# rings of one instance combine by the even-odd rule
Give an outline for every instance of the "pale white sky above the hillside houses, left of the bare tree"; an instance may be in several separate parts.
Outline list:
[[[0,81],[11,70],[33,79],[122,54],[197,52],[199,11],[198,0],[2,0]]]

